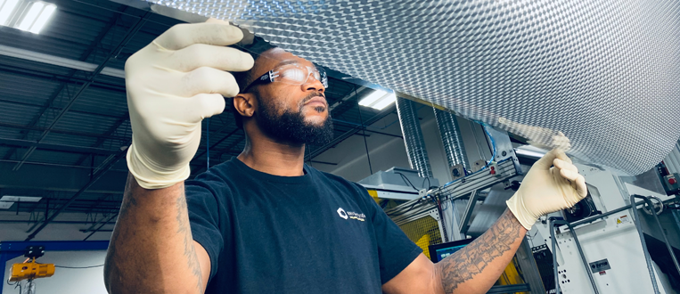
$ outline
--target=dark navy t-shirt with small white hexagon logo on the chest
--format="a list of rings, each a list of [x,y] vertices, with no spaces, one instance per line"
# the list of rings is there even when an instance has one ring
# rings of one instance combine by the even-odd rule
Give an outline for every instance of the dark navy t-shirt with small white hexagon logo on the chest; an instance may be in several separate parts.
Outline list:
[[[206,293],[381,293],[422,252],[364,187],[304,168],[273,176],[233,158],[186,182]]]

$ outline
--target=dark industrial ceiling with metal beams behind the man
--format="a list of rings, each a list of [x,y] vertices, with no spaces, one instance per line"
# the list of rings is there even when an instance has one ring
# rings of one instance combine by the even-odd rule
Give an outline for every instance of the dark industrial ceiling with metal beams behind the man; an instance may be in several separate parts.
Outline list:
[[[0,196],[42,197],[7,208],[30,212],[33,235],[62,212],[85,213],[97,224],[115,217],[131,140],[122,69],[127,57],[180,22],[111,1],[51,3],[57,11],[38,35],[0,27]],[[357,98],[373,89],[337,77],[329,84],[335,140],[308,146],[307,161],[395,112],[359,113]],[[230,111],[204,122],[192,176],[205,170],[207,146],[215,165],[243,144]]]

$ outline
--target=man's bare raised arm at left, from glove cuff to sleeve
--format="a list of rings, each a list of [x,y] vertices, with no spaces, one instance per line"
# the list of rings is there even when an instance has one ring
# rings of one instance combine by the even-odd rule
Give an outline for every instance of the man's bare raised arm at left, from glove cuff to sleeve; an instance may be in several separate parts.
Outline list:
[[[193,241],[184,183],[146,190],[127,185],[104,265],[110,293],[203,293],[210,259]]]

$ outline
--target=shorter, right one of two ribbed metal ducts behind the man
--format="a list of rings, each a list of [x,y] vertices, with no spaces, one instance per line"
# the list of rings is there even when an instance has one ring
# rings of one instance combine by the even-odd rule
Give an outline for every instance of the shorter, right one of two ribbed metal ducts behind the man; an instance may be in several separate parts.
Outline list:
[[[465,170],[469,171],[470,165],[468,164],[468,155],[465,153],[461,128],[458,127],[458,121],[455,119],[455,115],[437,109],[434,110],[434,115],[435,118],[437,118],[437,126],[439,127],[439,134],[441,134],[441,143],[444,144],[444,151],[447,152],[448,167],[462,165]]]

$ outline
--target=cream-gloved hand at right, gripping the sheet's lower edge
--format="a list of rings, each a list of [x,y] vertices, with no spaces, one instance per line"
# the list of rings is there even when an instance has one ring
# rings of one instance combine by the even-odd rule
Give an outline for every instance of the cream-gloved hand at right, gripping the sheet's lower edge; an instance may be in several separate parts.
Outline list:
[[[578,168],[563,151],[553,150],[534,163],[506,203],[520,224],[531,230],[539,216],[570,208],[587,194],[586,179],[578,175]]]

